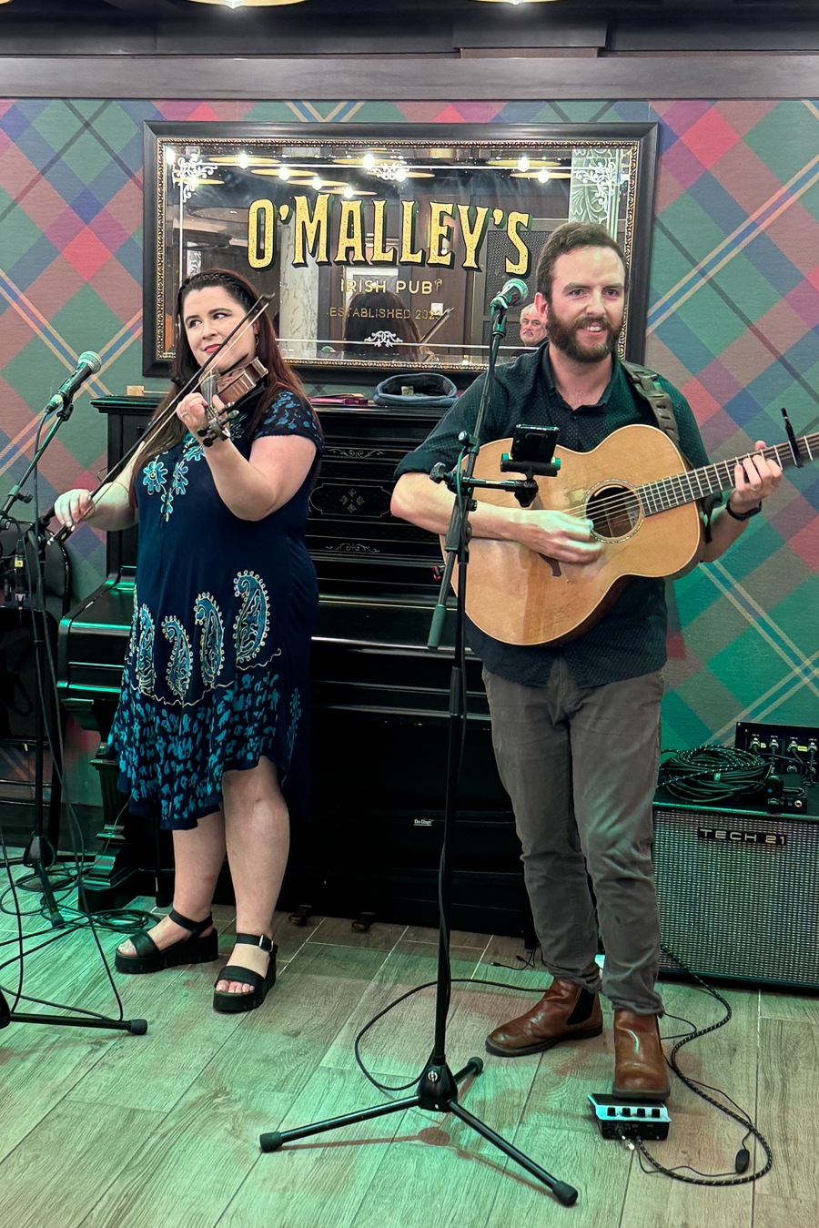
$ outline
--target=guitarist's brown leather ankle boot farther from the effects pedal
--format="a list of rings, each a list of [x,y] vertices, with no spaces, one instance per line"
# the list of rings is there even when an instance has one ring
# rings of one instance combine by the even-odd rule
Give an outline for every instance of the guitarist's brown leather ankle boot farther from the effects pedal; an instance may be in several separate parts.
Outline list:
[[[602,1032],[598,995],[575,981],[554,980],[530,1011],[489,1034],[486,1049],[500,1057],[523,1057],[551,1049],[561,1040],[587,1040]]]

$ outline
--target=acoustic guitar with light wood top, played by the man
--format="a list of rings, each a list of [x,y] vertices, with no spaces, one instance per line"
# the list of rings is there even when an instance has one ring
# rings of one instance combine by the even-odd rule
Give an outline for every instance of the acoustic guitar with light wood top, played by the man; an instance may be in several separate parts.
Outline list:
[[[510,479],[501,454],[511,440],[485,443],[475,476]],[[753,453],[748,453],[753,454]],[[819,433],[765,448],[782,468],[819,459]],[[505,643],[561,643],[592,626],[635,576],[674,576],[697,561],[702,519],[697,500],[732,490],[743,457],[686,469],[672,441],[654,426],[624,426],[592,452],[555,448],[555,478],[537,478],[532,508],[567,512],[592,522],[603,543],[591,564],[567,564],[517,542],[473,538],[467,613]],[[798,459],[797,459],[798,458]],[[521,475],[523,476],[523,475]],[[514,495],[478,488],[475,499],[517,507]]]

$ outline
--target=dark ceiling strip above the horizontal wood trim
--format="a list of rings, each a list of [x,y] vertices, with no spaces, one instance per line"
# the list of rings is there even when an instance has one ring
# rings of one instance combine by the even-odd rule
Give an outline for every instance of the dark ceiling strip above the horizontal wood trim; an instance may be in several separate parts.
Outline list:
[[[634,55],[819,50],[819,0],[11,0],[0,56]]]

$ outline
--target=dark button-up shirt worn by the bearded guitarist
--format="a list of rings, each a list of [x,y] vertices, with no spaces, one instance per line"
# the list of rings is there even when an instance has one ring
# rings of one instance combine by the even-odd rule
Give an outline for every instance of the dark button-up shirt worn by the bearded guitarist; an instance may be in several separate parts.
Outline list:
[[[599,402],[578,409],[571,409],[555,388],[548,345],[521,355],[512,366],[496,368],[495,377],[484,443],[505,440],[518,422],[526,422],[556,426],[561,447],[591,452],[621,426],[634,422],[657,426],[651,406],[635,392],[618,360]],[[460,449],[459,432],[474,427],[483,383],[483,378],[476,379],[421,447],[404,457],[395,470],[397,478],[404,473],[430,473],[440,460],[452,468]],[[667,379],[661,383],[672,398],[680,451],[694,467],[708,464],[689,403]],[[501,643],[469,620],[468,639],[486,668],[510,682],[544,686],[553,663],[564,657],[578,686],[603,686],[661,669],[666,663],[667,624],[666,582],[637,577],[594,626],[569,643],[555,647]]]

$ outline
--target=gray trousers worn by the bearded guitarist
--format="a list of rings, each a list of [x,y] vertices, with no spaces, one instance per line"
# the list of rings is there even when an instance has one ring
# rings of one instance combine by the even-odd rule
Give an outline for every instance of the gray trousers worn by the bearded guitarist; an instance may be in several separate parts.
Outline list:
[[[599,923],[605,996],[615,1008],[662,1014],[651,861],[662,675],[581,688],[557,658],[545,686],[486,669],[484,684],[545,966],[598,991]]]

